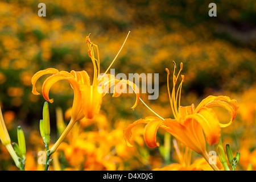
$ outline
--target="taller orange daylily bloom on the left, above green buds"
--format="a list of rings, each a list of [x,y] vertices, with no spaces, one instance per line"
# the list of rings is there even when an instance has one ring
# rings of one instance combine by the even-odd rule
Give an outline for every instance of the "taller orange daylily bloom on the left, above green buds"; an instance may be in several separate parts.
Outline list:
[[[123,43],[123,45],[125,44],[125,42]],[[137,96],[135,104],[133,105],[133,107],[131,107],[131,109],[134,109],[139,102],[139,89],[133,82],[129,80],[116,80],[113,75],[107,74],[115,59],[117,59],[117,56],[119,55],[119,52],[121,51],[123,45],[117,53],[117,56],[115,56],[114,60],[110,64],[109,68],[106,70],[106,72],[103,75],[100,75],[100,57],[98,53],[98,46],[90,41],[90,34],[89,36],[86,36],[86,44],[88,44],[89,57],[93,63],[94,73],[92,85],[90,84],[90,78],[86,71],[71,71],[69,73],[67,71],[59,71],[55,68],[48,68],[35,73],[35,75],[31,79],[32,93],[38,95],[40,93],[36,91],[36,81],[38,81],[38,79],[43,75],[52,74],[52,76],[49,76],[44,81],[42,86],[43,97],[51,103],[53,102],[53,99],[49,99],[49,89],[57,81],[67,80],[70,83],[72,89],[74,90],[71,121],[69,122],[68,126],[66,127],[58,141],[62,141],[64,139],[65,135],[67,135],[69,130],[71,130],[71,128],[77,121],[81,120],[82,118],[93,119],[94,116],[98,114],[102,103],[102,97],[105,96],[106,92],[111,86],[115,86],[113,97],[118,97],[123,93],[124,88],[126,88],[125,86],[130,85],[134,89],[134,92]],[[97,49],[97,59],[94,55],[93,46]],[[52,153],[56,150],[57,146],[59,146],[60,142],[58,141],[55,143],[56,145],[52,147]]]

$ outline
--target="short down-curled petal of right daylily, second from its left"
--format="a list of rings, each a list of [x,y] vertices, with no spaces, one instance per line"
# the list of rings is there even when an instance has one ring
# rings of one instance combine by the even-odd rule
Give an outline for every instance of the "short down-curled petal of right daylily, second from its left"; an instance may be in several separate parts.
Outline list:
[[[162,119],[155,118],[148,122],[144,130],[144,140],[148,147],[154,148],[159,147],[159,143],[156,142],[156,133],[158,131],[159,125]]]

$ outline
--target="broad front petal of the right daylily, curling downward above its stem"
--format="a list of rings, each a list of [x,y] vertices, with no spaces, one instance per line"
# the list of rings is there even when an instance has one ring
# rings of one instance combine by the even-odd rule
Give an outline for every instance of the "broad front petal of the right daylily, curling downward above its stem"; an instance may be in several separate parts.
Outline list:
[[[212,109],[203,107],[199,113],[188,115],[186,119],[195,119],[201,125],[207,143],[218,143],[221,135],[220,122]]]

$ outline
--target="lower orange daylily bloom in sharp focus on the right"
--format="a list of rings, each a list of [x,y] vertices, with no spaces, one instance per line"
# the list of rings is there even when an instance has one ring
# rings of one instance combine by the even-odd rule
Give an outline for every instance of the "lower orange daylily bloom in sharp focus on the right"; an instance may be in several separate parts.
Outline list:
[[[175,68],[176,64],[174,62],[174,86],[172,88],[172,94],[170,94],[168,83],[170,72],[166,69],[168,73],[167,88],[174,119],[164,119],[159,117],[139,119],[128,125],[123,131],[126,143],[128,146],[132,146],[130,143],[131,129],[140,123],[146,123],[144,140],[148,147],[159,146],[159,143],[156,142],[156,133],[160,127],[172,134],[176,139],[185,144],[185,146],[202,155],[208,161],[209,155],[206,151],[205,140],[207,140],[210,145],[218,143],[218,139],[221,136],[221,127],[229,126],[236,117],[238,109],[237,101],[231,100],[227,96],[208,96],[201,101],[196,108],[193,104],[185,107],[180,106],[181,86],[184,82],[184,75],[181,75],[182,81],[180,82],[176,94],[175,85],[177,78],[183,69],[183,63],[180,64],[180,71],[177,74],[177,77],[175,76]],[[220,123],[216,113],[210,108],[212,106],[221,106],[228,110],[231,116],[229,123]],[[217,169],[214,165],[212,167]]]

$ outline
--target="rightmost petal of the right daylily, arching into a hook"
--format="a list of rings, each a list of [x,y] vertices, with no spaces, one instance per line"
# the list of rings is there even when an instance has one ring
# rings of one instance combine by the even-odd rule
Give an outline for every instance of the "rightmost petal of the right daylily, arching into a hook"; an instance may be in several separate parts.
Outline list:
[[[203,107],[221,106],[229,111],[230,121],[229,123],[222,124],[221,127],[229,126],[234,118],[236,118],[238,105],[236,100],[231,100],[228,96],[208,96],[196,107],[195,113],[198,113]]]

